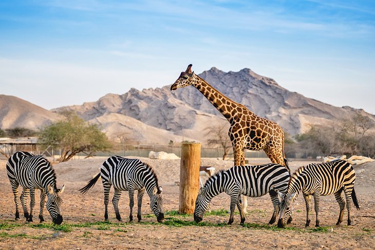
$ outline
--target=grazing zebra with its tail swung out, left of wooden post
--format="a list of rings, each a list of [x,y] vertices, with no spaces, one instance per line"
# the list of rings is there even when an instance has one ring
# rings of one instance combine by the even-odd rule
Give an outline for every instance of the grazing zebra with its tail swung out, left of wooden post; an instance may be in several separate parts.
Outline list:
[[[108,221],[109,190],[113,185],[115,194],[112,199],[115,208],[116,219],[122,221],[119,212],[119,199],[121,191],[128,191],[130,214],[129,221],[133,221],[134,191],[138,190],[138,222],[141,221],[142,198],[145,190],[150,197],[150,207],[153,210],[158,222],[164,222],[162,188],[158,185],[158,178],[147,163],[138,159],[127,159],[119,156],[109,157],[101,166],[99,174],[90,180],[86,186],[80,189],[82,194],[95,185],[99,178],[102,178],[104,187],[104,219]]]

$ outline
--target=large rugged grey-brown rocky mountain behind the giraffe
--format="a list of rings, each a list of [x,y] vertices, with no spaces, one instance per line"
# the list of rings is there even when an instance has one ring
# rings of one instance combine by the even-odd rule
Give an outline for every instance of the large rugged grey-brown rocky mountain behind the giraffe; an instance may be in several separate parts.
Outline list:
[[[375,116],[362,109],[334,107],[306,98],[247,68],[223,72],[213,67],[199,75],[228,98],[245,105],[260,117],[277,122],[292,135],[305,131],[309,124],[327,124],[349,118],[354,112],[361,112],[375,121]],[[117,113],[199,141],[205,139],[205,127],[228,123],[196,88],[188,86],[171,91],[171,84],[142,91],[132,88],[122,95],[107,94],[96,102],[53,111],[74,110],[86,120]]]

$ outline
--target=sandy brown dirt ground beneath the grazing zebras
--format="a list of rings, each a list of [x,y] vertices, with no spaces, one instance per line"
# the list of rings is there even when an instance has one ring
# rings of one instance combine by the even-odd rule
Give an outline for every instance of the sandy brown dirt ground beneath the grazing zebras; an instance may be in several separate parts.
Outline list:
[[[6,174],[6,161],[0,160],[0,248],[1,249],[270,249],[270,248],[331,248],[331,249],[375,249],[375,162],[354,166],[357,172],[355,191],[361,206],[352,208],[352,226],[346,226],[347,213],[341,226],[335,226],[339,212],[334,196],[321,199],[321,228],[305,228],[306,208],[302,196],[295,203],[293,221],[287,229],[268,226],[272,215],[269,196],[248,198],[248,214],[245,226],[239,225],[235,214],[232,225],[226,225],[228,214],[206,215],[203,223],[191,223],[193,216],[180,216],[178,210],[180,160],[151,160],[140,158],[155,169],[159,184],[163,187],[166,222],[157,223],[149,208],[149,197],[145,194],[142,206],[142,222],[128,223],[128,195],[120,199],[120,213],[124,222],[119,223],[109,204],[110,223],[104,221],[103,187],[98,181],[86,195],[78,191],[99,172],[105,158],[72,160],[54,164],[58,186],[66,185],[62,195],[64,204],[61,226],[53,226],[45,211],[46,222],[38,220],[26,223],[25,219],[14,221],[14,201]],[[250,164],[268,163],[268,159],[250,159]],[[308,161],[293,161],[293,170],[308,164]],[[203,158],[202,165],[214,166],[217,170],[228,169],[231,161]],[[203,180],[205,181],[205,180]],[[39,195],[39,191],[37,192]],[[38,197],[37,197],[38,198]],[[226,194],[215,197],[211,202],[213,211],[229,209],[230,198]],[[354,207],[354,206],[352,206]],[[36,200],[34,218],[39,214]],[[137,205],[134,207],[135,216]],[[312,221],[314,221],[314,214]],[[136,218],[136,217],[135,217]],[[176,223],[175,223],[176,222]],[[177,223],[178,222],[178,223]],[[185,223],[185,224],[184,224]],[[314,223],[311,223],[314,224]]]

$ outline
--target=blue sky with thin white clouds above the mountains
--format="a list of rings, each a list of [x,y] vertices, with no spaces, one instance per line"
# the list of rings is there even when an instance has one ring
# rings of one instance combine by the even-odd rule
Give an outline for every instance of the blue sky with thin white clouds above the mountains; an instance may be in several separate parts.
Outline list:
[[[0,1],[0,93],[47,109],[170,85],[190,63],[375,114],[375,2]]]

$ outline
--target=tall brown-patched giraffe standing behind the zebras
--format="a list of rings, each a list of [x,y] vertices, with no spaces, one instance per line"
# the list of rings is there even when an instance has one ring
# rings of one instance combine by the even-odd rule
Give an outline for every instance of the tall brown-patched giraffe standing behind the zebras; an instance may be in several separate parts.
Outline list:
[[[231,124],[229,137],[233,146],[234,165],[245,165],[245,149],[261,150],[266,152],[272,163],[288,167],[284,154],[284,132],[275,122],[256,116],[242,104],[230,100],[228,97],[213,88],[202,78],[192,72],[192,64],[171,86],[171,90],[189,85],[197,88],[205,98]]]

